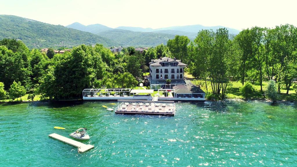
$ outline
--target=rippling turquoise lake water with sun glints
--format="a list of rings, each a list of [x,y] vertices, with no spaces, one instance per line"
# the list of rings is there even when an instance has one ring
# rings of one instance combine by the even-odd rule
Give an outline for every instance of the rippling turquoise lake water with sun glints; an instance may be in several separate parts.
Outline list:
[[[112,106],[1,104],[0,166],[296,166],[293,103],[176,103],[173,117],[116,115],[102,105]],[[95,146],[83,154],[48,137],[70,138],[79,127]]]

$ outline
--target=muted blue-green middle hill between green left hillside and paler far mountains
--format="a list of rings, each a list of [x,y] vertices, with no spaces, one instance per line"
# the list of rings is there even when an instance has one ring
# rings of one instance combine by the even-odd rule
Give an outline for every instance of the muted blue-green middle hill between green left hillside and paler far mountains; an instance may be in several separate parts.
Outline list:
[[[112,29],[98,33],[99,36],[117,41],[121,45],[135,47],[157,46],[166,44],[169,39],[173,39],[173,34],[163,34],[154,32],[134,32],[123,29]]]

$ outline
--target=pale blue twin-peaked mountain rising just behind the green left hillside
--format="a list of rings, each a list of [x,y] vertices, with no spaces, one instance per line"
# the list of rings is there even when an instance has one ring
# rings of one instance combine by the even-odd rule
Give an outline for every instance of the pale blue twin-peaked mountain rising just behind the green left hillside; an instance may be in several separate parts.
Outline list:
[[[98,34],[99,32],[102,31],[107,31],[110,30],[112,28],[108,27],[108,26],[104,26],[102,24],[92,24],[92,25],[88,25],[85,26],[83,24],[80,24],[78,22],[72,23],[68,26],[66,26],[67,28],[72,28],[72,29],[77,29],[80,31],[86,31],[86,32],[91,32],[93,34]]]

